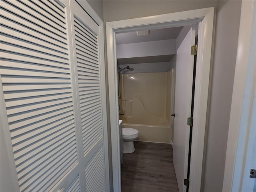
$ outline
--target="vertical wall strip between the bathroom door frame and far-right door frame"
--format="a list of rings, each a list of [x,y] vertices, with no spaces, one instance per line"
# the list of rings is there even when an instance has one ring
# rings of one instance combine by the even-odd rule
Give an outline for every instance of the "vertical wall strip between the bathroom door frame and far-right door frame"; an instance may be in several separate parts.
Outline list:
[[[222,191],[241,1],[218,1],[203,191]]]

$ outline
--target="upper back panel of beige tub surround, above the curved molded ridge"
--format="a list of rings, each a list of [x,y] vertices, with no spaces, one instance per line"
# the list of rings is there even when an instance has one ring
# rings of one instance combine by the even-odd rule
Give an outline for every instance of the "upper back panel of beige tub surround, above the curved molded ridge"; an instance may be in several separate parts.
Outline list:
[[[166,117],[166,72],[122,74],[122,99],[141,98],[147,111]]]

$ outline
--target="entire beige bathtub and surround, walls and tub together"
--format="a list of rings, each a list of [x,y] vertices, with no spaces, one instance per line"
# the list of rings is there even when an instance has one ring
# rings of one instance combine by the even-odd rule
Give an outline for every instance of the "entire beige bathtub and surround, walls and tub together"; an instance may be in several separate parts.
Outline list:
[[[123,127],[138,129],[138,141],[171,143],[170,90],[172,73],[121,74]]]

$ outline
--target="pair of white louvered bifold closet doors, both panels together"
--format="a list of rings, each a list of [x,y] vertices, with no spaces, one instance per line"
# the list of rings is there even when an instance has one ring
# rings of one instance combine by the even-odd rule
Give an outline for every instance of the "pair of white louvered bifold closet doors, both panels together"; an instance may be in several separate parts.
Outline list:
[[[99,25],[76,1],[1,1],[0,31],[14,191],[107,191]]]

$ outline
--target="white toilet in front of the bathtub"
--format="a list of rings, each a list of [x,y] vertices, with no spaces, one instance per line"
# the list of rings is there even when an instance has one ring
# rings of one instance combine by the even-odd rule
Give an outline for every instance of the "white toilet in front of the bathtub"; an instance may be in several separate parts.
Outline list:
[[[139,137],[139,131],[133,128],[123,128],[123,153],[135,151],[133,141]]]

